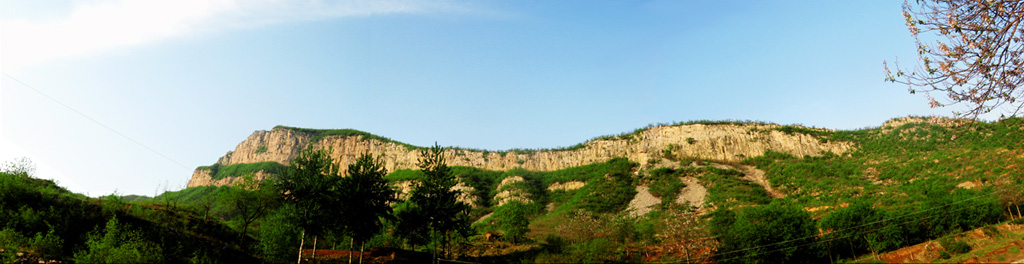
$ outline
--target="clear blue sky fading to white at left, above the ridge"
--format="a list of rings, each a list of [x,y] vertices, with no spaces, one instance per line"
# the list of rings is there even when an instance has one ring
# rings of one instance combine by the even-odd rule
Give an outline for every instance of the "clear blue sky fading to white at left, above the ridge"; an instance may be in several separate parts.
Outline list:
[[[883,80],[883,61],[915,63],[901,4],[0,0],[0,161],[155,195],[276,125],[500,150],[950,116]]]

